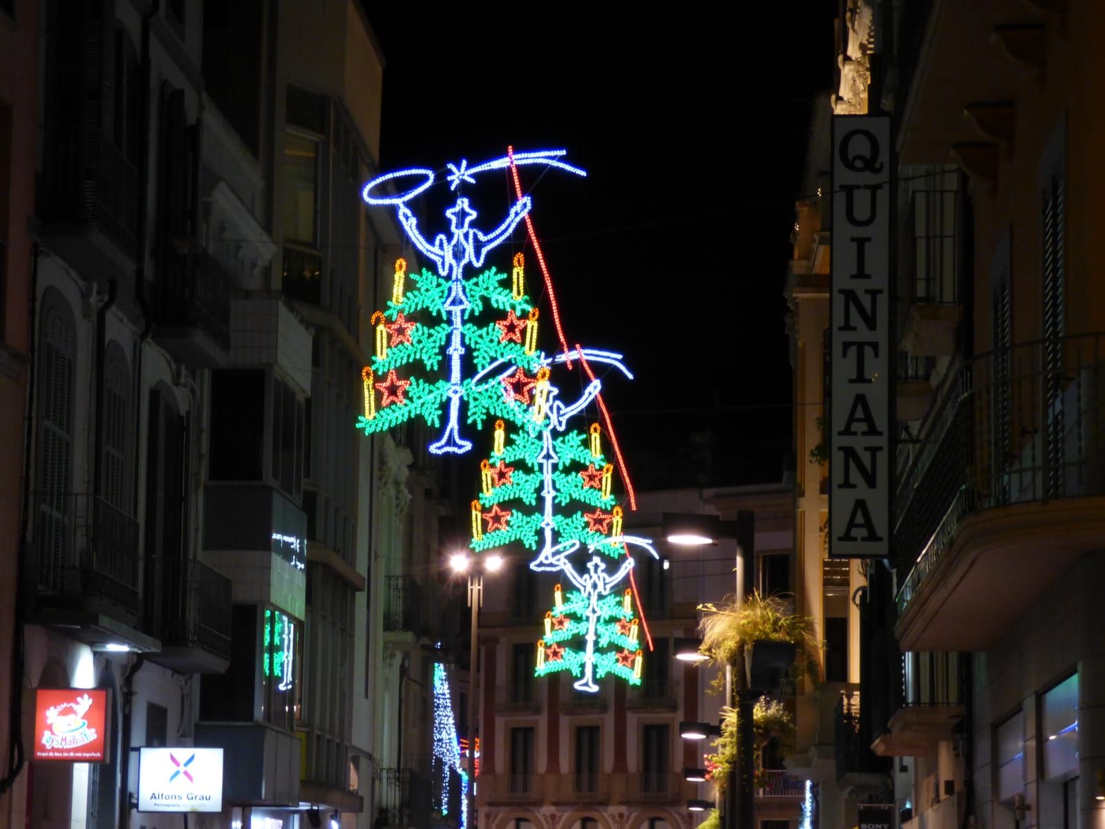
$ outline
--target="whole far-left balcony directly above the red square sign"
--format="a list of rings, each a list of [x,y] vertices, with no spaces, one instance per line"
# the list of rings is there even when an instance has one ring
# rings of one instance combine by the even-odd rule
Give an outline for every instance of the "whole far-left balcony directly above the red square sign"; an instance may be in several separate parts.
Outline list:
[[[73,628],[90,644],[156,650],[135,630],[140,612],[138,522],[98,495],[31,495],[31,571],[44,623]]]

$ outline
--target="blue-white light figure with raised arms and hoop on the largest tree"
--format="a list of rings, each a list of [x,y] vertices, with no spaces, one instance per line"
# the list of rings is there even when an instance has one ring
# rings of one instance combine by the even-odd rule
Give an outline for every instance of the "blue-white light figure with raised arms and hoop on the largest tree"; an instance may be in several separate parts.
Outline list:
[[[475,167],[469,167],[466,160],[460,165],[449,165],[450,175],[448,177],[450,189],[456,190],[462,183],[474,183],[475,176],[490,170],[502,170],[513,165],[543,164],[556,167],[578,176],[587,174],[578,167],[572,167],[559,160],[565,155],[565,150],[545,150],[537,153],[516,153],[513,156],[486,161]],[[397,181],[407,178],[421,178],[415,187],[398,195],[383,195],[379,188],[388,181]],[[472,443],[460,434],[460,407],[464,397],[464,378],[462,369],[462,357],[464,348],[464,319],[465,312],[472,306],[464,283],[464,269],[467,265],[480,267],[483,265],[487,253],[494,248],[509,239],[511,233],[525,216],[529,212],[532,202],[529,197],[519,198],[511,206],[509,211],[502,222],[493,230],[482,231],[473,227],[476,219],[476,211],[472,209],[469,199],[457,196],[456,202],[445,211],[449,219],[450,233],[438,233],[433,241],[428,240],[419,230],[418,220],[414,213],[407,207],[407,202],[421,193],[434,182],[433,170],[414,168],[399,170],[372,179],[365,186],[364,199],[369,204],[393,204],[398,207],[399,221],[403,225],[408,238],[414,248],[427,259],[432,261],[438,269],[438,274],[449,282],[449,292],[444,298],[443,308],[449,315],[450,332],[449,345],[445,354],[449,356],[449,388],[448,414],[445,429],[441,438],[430,444],[430,451],[436,454],[453,453],[462,454],[472,448]],[[389,379],[390,376],[389,376]],[[401,381],[400,381],[401,382]],[[388,387],[389,389],[391,387]],[[388,393],[388,390],[385,390]],[[402,395],[400,393],[401,398]],[[389,399],[389,398],[386,398]]]

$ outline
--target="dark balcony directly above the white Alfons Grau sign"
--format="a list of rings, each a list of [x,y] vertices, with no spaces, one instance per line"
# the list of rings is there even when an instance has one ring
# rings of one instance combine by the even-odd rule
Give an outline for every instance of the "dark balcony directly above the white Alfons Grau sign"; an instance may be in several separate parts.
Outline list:
[[[231,581],[197,560],[146,560],[146,618],[161,651],[150,661],[180,673],[223,673],[230,664]]]

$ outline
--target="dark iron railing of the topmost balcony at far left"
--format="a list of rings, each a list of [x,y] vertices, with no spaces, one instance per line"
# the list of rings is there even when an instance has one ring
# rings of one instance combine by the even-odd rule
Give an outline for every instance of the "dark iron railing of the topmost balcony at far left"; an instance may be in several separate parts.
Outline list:
[[[125,253],[135,253],[138,169],[80,118],[51,128],[42,165],[39,213],[46,222],[91,223]]]

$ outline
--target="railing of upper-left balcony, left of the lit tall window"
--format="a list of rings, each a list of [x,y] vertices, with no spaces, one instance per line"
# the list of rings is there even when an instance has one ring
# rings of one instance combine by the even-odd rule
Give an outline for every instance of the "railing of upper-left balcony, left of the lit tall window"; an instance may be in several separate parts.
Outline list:
[[[230,348],[231,277],[204,250],[169,253],[157,275],[157,321],[201,328]]]

